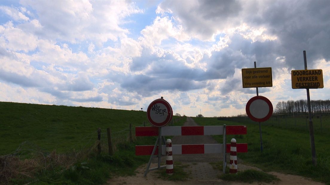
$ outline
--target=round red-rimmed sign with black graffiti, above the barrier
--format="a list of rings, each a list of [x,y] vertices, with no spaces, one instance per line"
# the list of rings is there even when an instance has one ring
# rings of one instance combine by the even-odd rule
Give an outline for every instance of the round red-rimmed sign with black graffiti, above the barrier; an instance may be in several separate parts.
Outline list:
[[[165,126],[172,120],[172,107],[162,98],[153,100],[147,109],[147,117],[153,126]]]

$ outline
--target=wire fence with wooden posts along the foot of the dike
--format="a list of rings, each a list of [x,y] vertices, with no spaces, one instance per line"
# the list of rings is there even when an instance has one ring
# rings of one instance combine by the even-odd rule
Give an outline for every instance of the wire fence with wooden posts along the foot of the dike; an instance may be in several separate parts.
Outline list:
[[[182,117],[181,117],[182,118]],[[179,121],[178,118],[172,119],[173,122]],[[135,126],[127,124],[127,128],[110,133],[111,145],[109,144],[109,134],[107,128],[99,128],[93,132],[85,134],[80,142],[72,145],[63,152],[56,149],[47,151],[30,141],[22,142],[17,149],[7,155],[0,156],[0,184],[8,184],[12,178],[32,178],[36,172],[46,172],[55,167],[69,169],[77,161],[85,160],[92,152],[100,154],[116,152],[118,144],[133,142],[135,137]],[[136,124],[134,124],[136,125]],[[150,126],[144,121],[137,126]],[[30,183],[33,183],[30,182]]]

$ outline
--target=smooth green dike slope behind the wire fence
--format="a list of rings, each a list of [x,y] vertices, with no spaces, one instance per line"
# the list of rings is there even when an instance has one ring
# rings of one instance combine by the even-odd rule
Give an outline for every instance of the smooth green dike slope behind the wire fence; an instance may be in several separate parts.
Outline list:
[[[148,122],[142,111],[0,102],[0,155],[14,152],[25,141],[66,152],[91,137],[95,141],[99,127],[103,133],[108,127],[116,133],[143,121]]]

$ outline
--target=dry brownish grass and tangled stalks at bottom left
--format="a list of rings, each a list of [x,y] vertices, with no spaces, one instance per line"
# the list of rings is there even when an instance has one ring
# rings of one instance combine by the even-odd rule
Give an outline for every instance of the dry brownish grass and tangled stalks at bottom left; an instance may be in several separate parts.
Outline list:
[[[0,184],[9,184],[11,179],[33,178],[38,172],[53,170],[56,167],[68,169],[89,151],[94,150],[73,150],[66,154],[58,154],[53,150],[45,153],[24,142],[13,154],[0,156]]]

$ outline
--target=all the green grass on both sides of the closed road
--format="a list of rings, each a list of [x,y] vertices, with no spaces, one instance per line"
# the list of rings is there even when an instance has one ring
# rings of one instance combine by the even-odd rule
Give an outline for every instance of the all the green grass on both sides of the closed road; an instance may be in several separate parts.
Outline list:
[[[147,123],[146,112],[142,111],[8,102],[0,102],[0,111],[0,156],[13,154],[7,164],[3,161],[8,157],[0,158],[0,184],[104,184],[114,174],[134,174],[135,169],[149,159],[149,156],[135,156],[134,146],[153,145],[156,140],[155,137],[133,136],[133,142],[128,141],[130,123],[133,135],[135,126],[142,126],[144,121]],[[182,125],[185,117],[182,118],[174,126]],[[262,123],[263,153],[260,152],[257,123],[246,119],[194,119],[200,125],[247,125],[247,135],[227,136],[227,141],[235,138],[238,143],[248,143],[248,153],[238,154],[245,163],[265,171],[298,174],[330,182],[330,134],[327,132],[329,121],[325,116],[322,117],[322,133],[317,130],[320,128],[317,117],[314,122],[316,167],[311,162],[309,133],[301,126],[304,125],[301,121],[298,123],[297,117],[296,123],[293,118],[285,119],[283,116]],[[107,148],[108,127],[116,148],[112,156]],[[74,163],[66,163],[67,156],[91,148],[97,138],[97,128],[101,128],[101,154],[88,152],[90,154],[84,157],[75,158]],[[222,143],[222,136],[215,136],[215,139]]]

